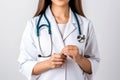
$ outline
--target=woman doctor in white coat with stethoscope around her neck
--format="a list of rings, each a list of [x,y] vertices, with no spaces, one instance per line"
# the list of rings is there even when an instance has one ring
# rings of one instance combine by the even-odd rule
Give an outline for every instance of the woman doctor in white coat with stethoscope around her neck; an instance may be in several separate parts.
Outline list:
[[[39,0],[22,37],[20,72],[28,80],[93,80],[99,61],[81,0]]]

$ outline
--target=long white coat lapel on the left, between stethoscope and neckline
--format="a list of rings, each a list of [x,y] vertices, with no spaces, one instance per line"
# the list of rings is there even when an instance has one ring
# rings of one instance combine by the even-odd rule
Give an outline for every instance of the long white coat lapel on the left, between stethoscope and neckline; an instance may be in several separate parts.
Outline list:
[[[60,34],[60,31],[58,29],[58,25],[57,25],[57,23],[54,19],[54,16],[52,15],[52,12],[50,10],[50,6],[46,10],[46,16],[51,24],[53,47],[54,47],[56,53],[60,53],[61,50],[64,48],[64,42],[63,42],[62,36]]]

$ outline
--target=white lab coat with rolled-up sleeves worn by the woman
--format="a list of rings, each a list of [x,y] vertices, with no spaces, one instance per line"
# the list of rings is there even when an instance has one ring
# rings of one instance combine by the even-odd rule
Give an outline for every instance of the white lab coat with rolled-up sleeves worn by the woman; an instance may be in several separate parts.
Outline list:
[[[92,74],[85,73],[76,62],[74,62],[70,57],[67,57],[67,62],[61,68],[48,70],[39,75],[32,75],[32,69],[35,64],[48,59],[38,57],[38,55],[41,54],[41,50],[38,45],[38,37],[36,36],[36,24],[38,17],[28,21],[22,37],[20,56],[18,58],[20,72],[22,72],[28,78],[28,80],[93,80],[92,77],[97,70],[100,59],[96,37],[91,21],[80,15],[77,15],[81,32],[86,36],[85,41],[83,43],[79,43],[77,41],[78,26],[71,10],[70,18],[65,28],[63,37],[61,37],[50,7],[47,8],[46,14],[51,23],[52,29],[52,53],[60,53],[66,45],[76,45],[79,48],[81,55],[90,56],[88,59],[92,65]],[[44,23],[48,24],[43,17],[41,24]],[[48,28],[46,27],[40,29],[40,42],[42,52],[44,54],[49,54],[51,47]]]

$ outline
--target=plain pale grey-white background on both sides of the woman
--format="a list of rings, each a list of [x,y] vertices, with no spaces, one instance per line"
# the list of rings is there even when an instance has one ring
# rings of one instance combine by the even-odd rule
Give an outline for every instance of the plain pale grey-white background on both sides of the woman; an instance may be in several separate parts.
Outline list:
[[[26,80],[17,58],[27,20],[38,0],[0,0],[0,80]],[[120,80],[120,0],[83,0],[86,16],[94,23],[101,63],[95,80]]]

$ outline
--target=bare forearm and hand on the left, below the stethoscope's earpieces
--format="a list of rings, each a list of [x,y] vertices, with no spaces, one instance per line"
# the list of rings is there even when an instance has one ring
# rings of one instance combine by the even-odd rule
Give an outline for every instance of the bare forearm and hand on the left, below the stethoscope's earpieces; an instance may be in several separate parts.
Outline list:
[[[64,54],[53,54],[48,60],[43,62],[38,62],[32,71],[33,75],[41,74],[49,69],[59,68],[66,61],[66,56]]]

